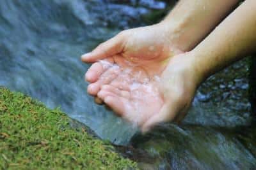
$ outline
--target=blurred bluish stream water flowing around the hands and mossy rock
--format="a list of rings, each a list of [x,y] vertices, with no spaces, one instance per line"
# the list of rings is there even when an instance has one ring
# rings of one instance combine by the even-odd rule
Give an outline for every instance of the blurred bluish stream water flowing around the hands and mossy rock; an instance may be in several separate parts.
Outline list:
[[[89,65],[79,56],[122,29],[154,23],[166,8],[154,0],[2,0],[0,85],[60,106],[100,138],[126,145],[118,149],[143,169],[255,169],[247,59],[200,87],[184,124],[146,136],[86,94]]]

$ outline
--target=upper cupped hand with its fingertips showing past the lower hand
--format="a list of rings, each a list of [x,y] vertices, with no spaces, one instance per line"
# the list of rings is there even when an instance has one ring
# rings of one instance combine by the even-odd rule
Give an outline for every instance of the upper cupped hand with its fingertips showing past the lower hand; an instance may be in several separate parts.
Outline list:
[[[95,50],[81,57],[84,62],[95,62],[86,73],[88,93],[97,96],[102,85],[113,81],[120,67],[138,66],[148,76],[160,74],[169,57],[182,53],[172,43],[169,33],[164,31],[163,25],[152,25],[122,31],[114,38],[97,46]],[[111,64],[99,62],[104,59],[118,67],[111,67]],[[127,62],[129,61],[129,64]]]

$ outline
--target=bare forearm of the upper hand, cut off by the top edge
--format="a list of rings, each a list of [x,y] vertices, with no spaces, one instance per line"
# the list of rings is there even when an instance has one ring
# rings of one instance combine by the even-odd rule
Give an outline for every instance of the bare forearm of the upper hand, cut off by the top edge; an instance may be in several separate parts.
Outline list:
[[[160,23],[170,41],[182,51],[192,50],[230,13],[238,0],[180,0]]]

